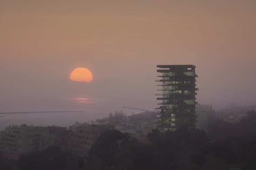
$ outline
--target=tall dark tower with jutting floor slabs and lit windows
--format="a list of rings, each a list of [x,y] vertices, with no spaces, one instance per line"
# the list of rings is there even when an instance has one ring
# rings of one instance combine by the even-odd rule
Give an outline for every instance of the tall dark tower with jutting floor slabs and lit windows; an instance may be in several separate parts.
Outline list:
[[[158,103],[161,112],[158,113],[158,128],[161,132],[166,132],[168,129],[171,131],[176,130],[180,126],[187,126],[189,129],[195,128],[195,88],[196,80],[198,77],[195,74],[194,65],[157,65],[162,73],[158,75],[161,77],[161,82],[158,84],[161,88],[158,89],[162,93],[157,100],[162,102]]]

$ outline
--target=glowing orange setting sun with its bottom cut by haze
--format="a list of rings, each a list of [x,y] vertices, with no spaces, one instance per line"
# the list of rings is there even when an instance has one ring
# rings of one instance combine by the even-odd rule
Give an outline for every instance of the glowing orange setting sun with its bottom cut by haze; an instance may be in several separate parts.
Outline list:
[[[93,74],[86,68],[76,68],[70,74],[70,80],[77,82],[91,82],[93,80]]]

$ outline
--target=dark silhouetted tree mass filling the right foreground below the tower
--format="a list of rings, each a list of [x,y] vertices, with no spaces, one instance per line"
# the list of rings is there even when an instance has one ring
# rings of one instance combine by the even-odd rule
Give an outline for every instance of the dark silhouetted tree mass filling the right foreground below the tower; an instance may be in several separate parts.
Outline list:
[[[253,170],[256,167],[255,125],[248,127],[250,123],[246,121],[251,122],[243,119],[242,123],[226,124],[217,120],[215,125],[221,128],[215,128],[211,137],[204,131],[187,127],[164,134],[153,129],[147,136],[150,144],[141,144],[129,134],[116,130],[106,131],[89,150],[84,169],[226,170],[237,165],[236,168]],[[216,139],[218,136],[222,137]]]

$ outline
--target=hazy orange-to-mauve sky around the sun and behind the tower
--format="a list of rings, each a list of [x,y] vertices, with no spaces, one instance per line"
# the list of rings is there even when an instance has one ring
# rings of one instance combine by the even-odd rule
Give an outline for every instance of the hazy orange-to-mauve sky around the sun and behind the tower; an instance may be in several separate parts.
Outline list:
[[[0,0],[0,111],[79,94],[156,108],[161,64],[196,65],[201,104],[255,105],[255,21],[255,0]]]

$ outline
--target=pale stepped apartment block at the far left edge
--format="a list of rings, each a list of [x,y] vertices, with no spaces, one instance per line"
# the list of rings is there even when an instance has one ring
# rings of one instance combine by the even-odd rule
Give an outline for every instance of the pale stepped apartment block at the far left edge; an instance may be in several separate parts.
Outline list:
[[[0,151],[6,154],[27,154],[54,145],[54,136],[40,126],[9,126],[0,133]]]

